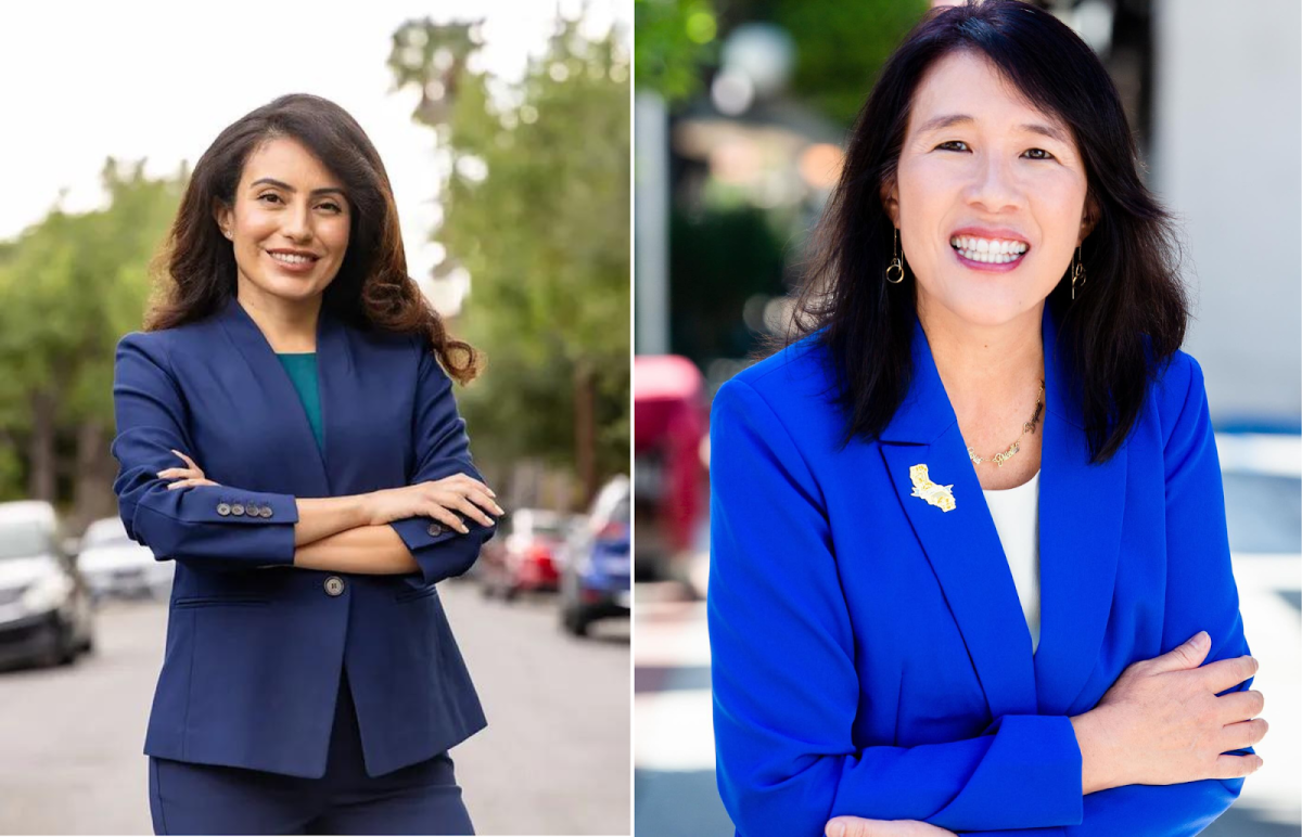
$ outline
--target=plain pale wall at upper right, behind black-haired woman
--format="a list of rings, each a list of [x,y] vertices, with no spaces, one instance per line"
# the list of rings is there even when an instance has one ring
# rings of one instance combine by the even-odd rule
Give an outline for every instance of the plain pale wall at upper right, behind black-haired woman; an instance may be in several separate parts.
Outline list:
[[[1151,184],[1184,221],[1212,417],[1302,414],[1302,3],[1157,0]]]

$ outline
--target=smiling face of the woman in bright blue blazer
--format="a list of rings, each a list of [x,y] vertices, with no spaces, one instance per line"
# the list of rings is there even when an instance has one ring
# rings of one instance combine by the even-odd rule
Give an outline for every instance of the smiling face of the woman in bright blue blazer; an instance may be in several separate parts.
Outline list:
[[[914,94],[884,194],[919,316],[988,327],[1038,315],[1088,234],[1086,191],[1060,120],[984,56],[937,60]]]

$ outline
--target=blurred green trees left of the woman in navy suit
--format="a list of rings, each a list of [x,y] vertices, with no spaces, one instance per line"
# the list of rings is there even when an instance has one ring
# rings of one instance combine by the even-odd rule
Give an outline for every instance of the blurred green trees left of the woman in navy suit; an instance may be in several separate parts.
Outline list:
[[[0,499],[102,513],[112,497],[107,483],[83,496],[79,480],[111,469],[113,349],[141,327],[186,177],[109,159],[103,210],[55,208],[0,246]]]

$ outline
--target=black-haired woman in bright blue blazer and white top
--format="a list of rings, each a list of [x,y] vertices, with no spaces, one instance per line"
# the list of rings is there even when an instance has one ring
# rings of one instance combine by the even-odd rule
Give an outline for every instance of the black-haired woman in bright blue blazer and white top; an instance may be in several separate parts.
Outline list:
[[[713,402],[738,834],[1193,834],[1259,767],[1170,242],[1049,13],[934,13],[889,60],[797,338]]]

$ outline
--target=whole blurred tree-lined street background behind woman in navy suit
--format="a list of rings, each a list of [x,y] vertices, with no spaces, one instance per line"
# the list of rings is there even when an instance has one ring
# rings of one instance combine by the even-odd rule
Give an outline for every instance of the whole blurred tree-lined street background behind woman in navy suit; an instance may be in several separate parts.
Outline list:
[[[132,12],[0,12],[0,832],[151,830],[172,564],[116,519],[113,348],[194,160],[301,91],[366,129],[487,358],[457,398],[508,517],[441,591],[490,721],[452,751],[471,816],[628,833],[631,4]]]

